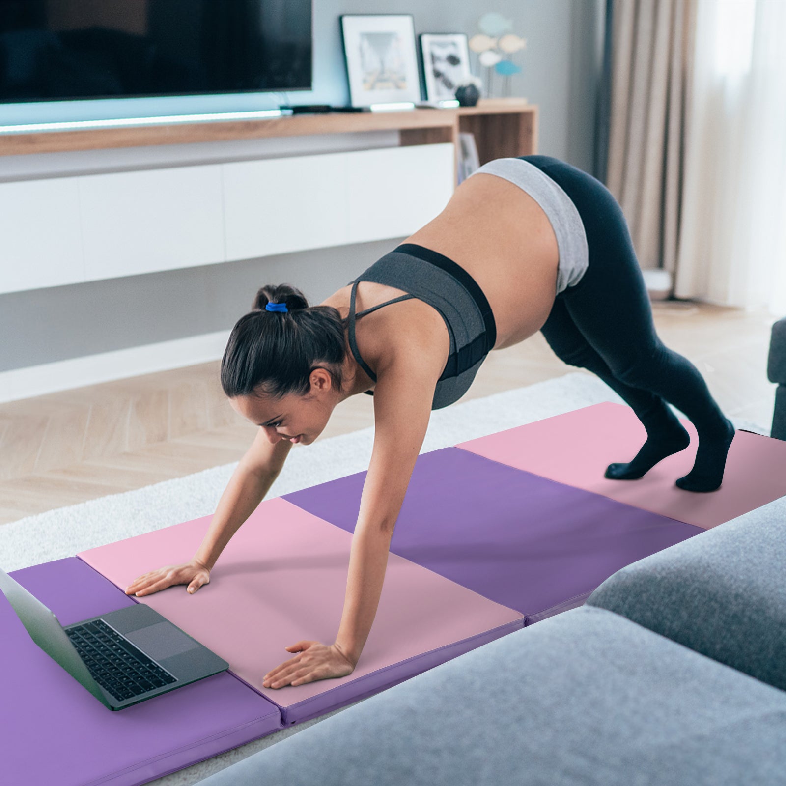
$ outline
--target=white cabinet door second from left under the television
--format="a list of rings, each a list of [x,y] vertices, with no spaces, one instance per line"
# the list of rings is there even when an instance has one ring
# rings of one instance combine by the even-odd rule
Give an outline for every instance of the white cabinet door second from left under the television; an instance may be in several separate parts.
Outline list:
[[[79,178],[88,280],[224,262],[221,165]]]

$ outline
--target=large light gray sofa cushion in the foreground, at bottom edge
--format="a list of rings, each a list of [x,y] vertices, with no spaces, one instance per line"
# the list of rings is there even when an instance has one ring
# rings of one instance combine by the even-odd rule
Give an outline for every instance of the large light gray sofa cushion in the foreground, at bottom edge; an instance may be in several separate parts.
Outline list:
[[[782,783],[786,693],[576,608],[303,729],[204,786]]]

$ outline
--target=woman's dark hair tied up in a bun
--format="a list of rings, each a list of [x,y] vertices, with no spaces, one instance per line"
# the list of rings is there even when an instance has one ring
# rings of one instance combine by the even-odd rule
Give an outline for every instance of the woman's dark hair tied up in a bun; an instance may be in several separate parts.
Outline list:
[[[267,303],[285,303],[287,311],[267,311]],[[347,345],[338,310],[309,306],[303,292],[288,284],[261,288],[252,309],[233,327],[221,362],[221,386],[230,399],[257,388],[276,398],[303,395],[318,367],[341,389]]]

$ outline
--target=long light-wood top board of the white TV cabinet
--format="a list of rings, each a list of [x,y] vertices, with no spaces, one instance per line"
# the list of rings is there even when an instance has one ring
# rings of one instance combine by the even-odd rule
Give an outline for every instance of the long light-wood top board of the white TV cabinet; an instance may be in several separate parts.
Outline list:
[[[194,142],[294,137],[314,134],[351,134],[358,131],[453,127],[459,116],[536,112],[526,98],[481,99],[478,105],[457,108],[420,108],[402,112],[332,112],[328,115],[289,115],[269,119],[217,120],[86,130],[0,134],[0,156],[68,152]]]

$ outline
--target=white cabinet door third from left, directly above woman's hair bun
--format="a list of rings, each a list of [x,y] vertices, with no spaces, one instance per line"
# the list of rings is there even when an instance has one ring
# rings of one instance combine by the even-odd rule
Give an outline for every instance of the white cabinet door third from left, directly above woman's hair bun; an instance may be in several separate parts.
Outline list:
[[[347,155],[223,164],[227,259],[346,243]]]

